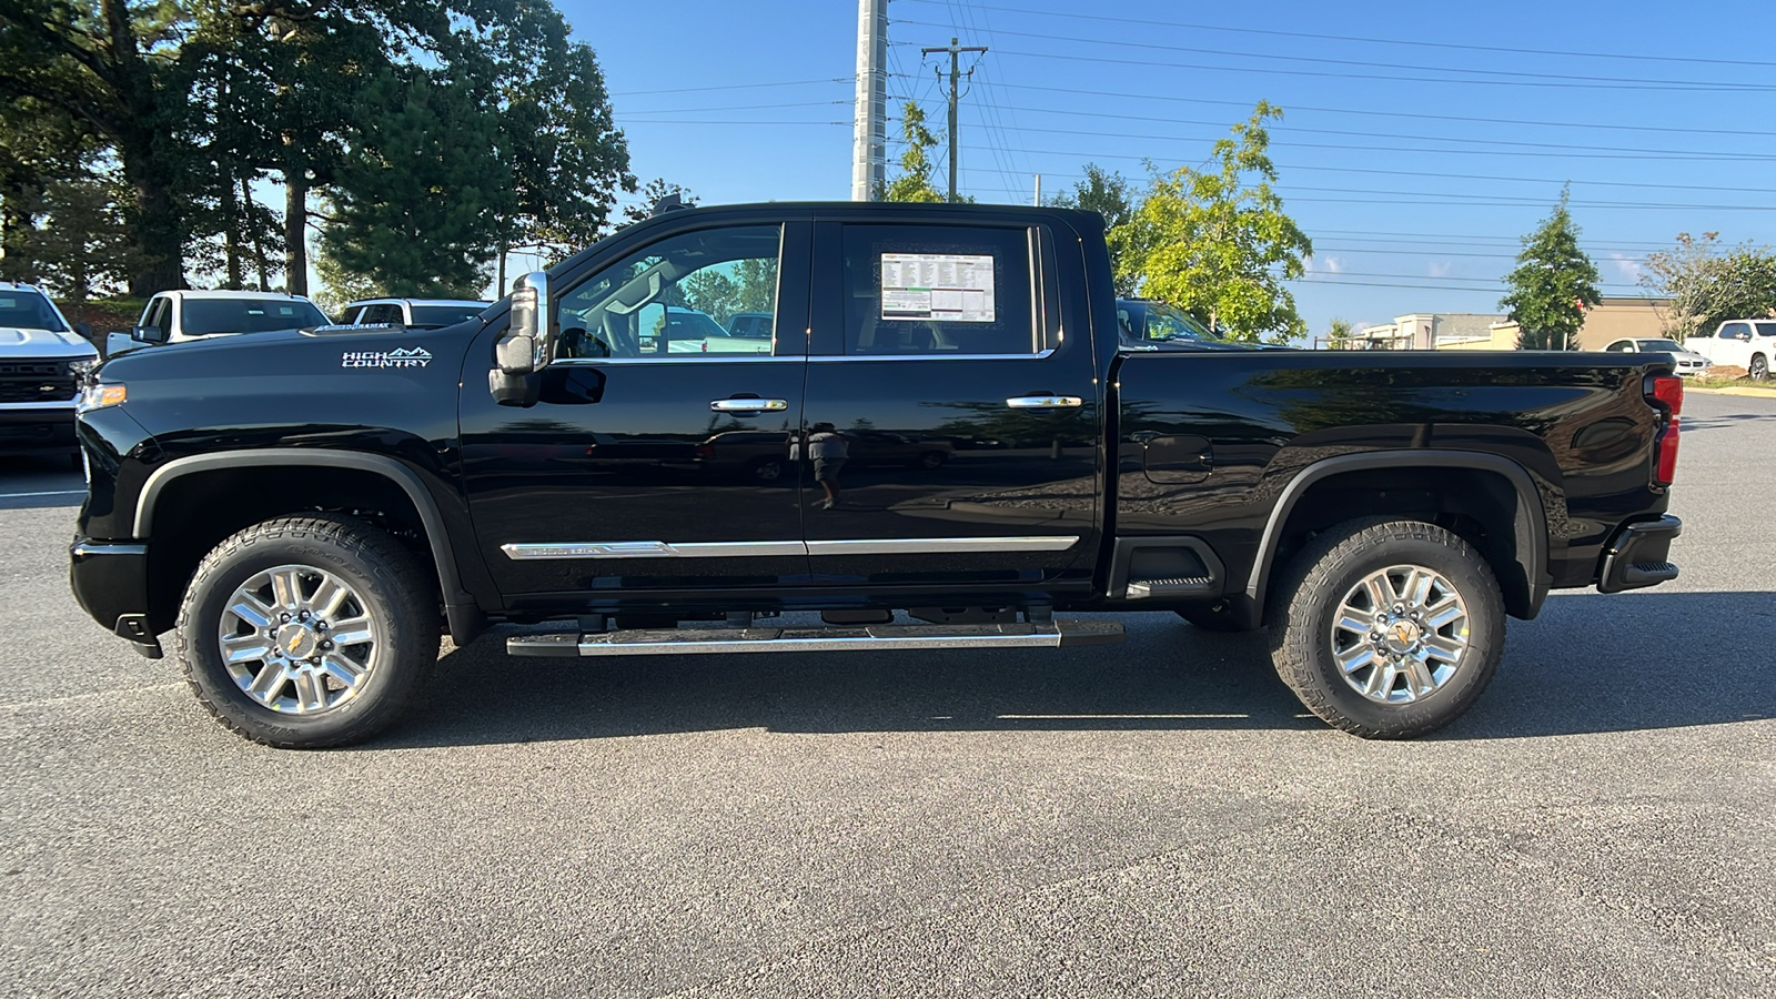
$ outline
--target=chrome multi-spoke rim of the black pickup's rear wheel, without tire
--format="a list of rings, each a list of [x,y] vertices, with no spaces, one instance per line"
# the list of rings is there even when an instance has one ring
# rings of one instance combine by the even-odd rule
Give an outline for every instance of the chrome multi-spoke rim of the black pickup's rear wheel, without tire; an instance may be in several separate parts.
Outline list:
[[[1339,603],[1332,654],[1352,690],[1412,704],[1442,690],[1467,654],[1467,604],[1423,565],[1394,565],[1359,581]]]

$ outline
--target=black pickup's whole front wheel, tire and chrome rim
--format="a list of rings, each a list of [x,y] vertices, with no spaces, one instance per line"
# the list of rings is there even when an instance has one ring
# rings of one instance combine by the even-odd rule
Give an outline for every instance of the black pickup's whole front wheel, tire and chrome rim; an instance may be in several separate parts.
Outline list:
[[[364,741],[408,706],[437,661],[424,567],[353,517],[254,524],[199,563],[172,631],[197,700],[277,748]]]

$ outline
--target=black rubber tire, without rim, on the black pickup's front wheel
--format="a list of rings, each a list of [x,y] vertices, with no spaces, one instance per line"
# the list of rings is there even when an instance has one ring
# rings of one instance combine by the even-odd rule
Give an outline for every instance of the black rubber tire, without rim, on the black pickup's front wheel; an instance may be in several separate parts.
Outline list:
[[[341,606],[357,608],[377,635],[362,686],[313,715],[275,711],[254,699],[222,656],[220,629],[236,590],[279,567],[337,578],[350,588],[350,603]],[[277,748],[343,747],[377,736],[407,711],[437,663],[439,624],[433,571],[398,540],[353,517],[282,517],[254,524],[204,556],[185,588],[172,654],[197,700],[242,738]],[[259,667],[268,668],[270,661]],[[329,695],[345,690],[337,681],[314,683]]]

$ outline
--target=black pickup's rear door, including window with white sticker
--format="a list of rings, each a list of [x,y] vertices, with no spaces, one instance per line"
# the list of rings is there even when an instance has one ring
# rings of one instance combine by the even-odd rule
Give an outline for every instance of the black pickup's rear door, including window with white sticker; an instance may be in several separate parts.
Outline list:
[[[904,219],[815,226],[805,432],[849,450],[805,491],[815,579],[1087,583],[1101,425],[1078,236],[1027,213]]]

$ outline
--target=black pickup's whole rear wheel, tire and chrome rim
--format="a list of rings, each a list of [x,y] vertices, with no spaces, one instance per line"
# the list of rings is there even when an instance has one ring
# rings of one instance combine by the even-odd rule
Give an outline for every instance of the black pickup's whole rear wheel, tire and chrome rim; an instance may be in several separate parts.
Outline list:
[[[1504,651],[1487,560],[1423,521],[1339,524],[1279,579],[1272,659],[1309,711],[1369,739],[1410,739],[1462,716]]]

